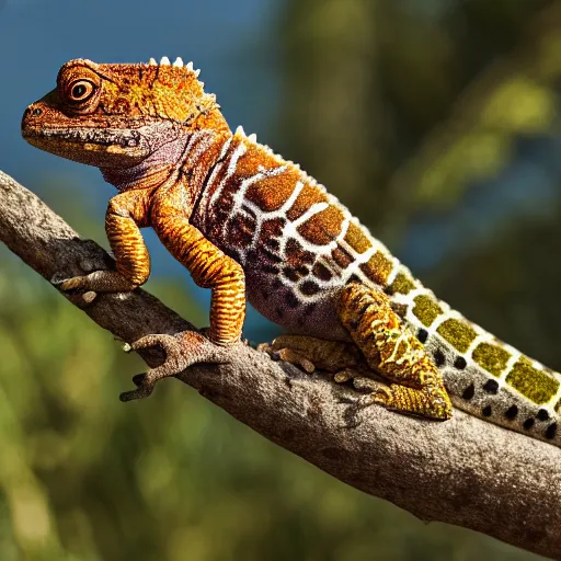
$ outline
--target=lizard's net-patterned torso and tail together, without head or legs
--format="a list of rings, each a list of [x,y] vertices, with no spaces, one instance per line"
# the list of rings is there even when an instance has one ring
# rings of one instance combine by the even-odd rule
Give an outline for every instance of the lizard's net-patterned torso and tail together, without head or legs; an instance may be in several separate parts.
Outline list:
[[[270,320],[348,340],[336,291],[352,280],[380,288],[432,354],[456,407],[561,445],[559,374],[437,300],[322,185],[241,129],[193,222],[242,265],[248,298]]]

